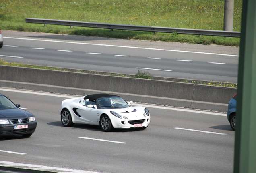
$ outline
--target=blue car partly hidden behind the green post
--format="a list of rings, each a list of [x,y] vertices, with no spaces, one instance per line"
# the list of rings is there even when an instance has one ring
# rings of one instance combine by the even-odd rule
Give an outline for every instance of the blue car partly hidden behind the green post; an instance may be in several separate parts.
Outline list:
[[[227,109],[227,120],[229,121],[230,126],[234,131],[235,131],[236,102],[237,102],[237,94],[235,94],[230,99],[228,109]]]

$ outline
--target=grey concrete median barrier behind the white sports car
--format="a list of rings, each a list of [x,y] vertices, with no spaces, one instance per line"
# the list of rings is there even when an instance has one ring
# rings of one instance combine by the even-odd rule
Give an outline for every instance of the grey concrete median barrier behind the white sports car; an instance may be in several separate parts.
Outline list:
[[[126,100],[225,112],[235,88],[0,66],[0,87],[72,95],[114,93]]]

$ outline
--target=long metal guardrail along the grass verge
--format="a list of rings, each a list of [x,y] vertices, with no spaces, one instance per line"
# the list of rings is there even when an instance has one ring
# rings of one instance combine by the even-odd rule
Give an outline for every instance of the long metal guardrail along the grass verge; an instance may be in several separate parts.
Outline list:
[[[105,23],[93,23],[93,22],[77,22],[72,20],[52,20],[52,19],[40,19],[40,18],[26,18],[26,23],[37,24],[54,24],[65,26],[80,26],[89,28],[103,28],[110,30],[134,30],[145,32],[165,32],[165,33],[177,33],[177,34],[192,34],[192,35],[206,35],[206,36],[224,36],[224,37],[240,37],[240,32],[233,31],[221,31],[221,30],[199,30],[199,29],[183,29],[183,28],[167,28],[156,26],[136,26],[136,25],[122,25],[122,24],[105,24]]]

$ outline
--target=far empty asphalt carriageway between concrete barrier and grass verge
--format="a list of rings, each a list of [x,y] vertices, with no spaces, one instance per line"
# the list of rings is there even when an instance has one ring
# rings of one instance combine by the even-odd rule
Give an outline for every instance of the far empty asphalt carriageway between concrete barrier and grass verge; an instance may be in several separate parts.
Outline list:
[[[237,47],[2,32],[0,58],[7,62],[237,83]]]

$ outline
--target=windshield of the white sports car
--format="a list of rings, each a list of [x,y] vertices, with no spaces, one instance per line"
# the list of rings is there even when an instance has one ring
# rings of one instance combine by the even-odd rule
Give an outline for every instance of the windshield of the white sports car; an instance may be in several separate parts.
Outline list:
[[[98,106],[101,109],[110,109],[110,108],[126,108],[130,107],[124,99],[121,97],[105,97],[99,99]]]

